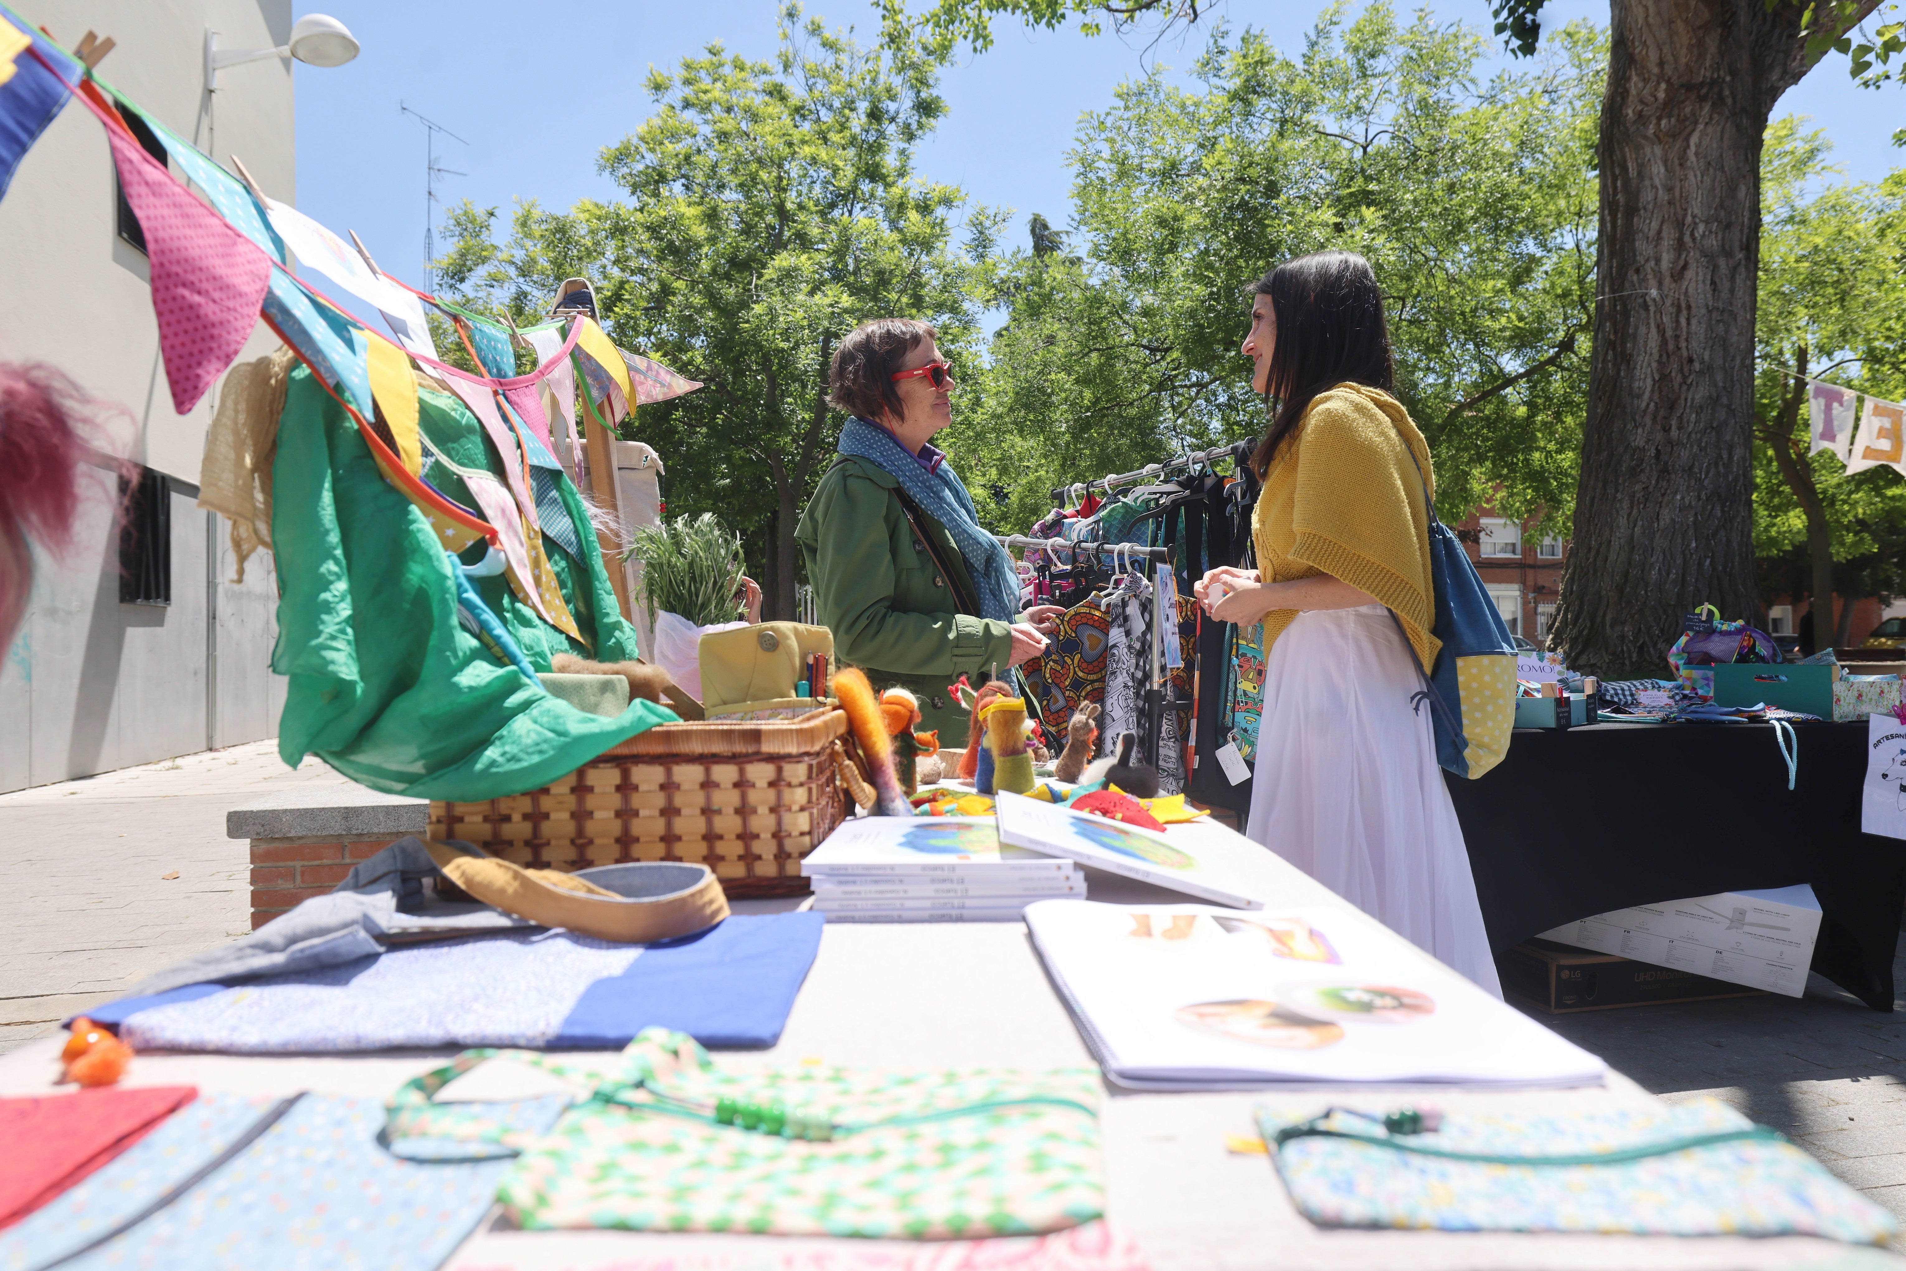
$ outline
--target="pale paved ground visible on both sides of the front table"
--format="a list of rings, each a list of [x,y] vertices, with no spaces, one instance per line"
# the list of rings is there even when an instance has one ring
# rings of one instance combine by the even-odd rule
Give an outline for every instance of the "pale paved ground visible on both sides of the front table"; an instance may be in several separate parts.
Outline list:
[[[313,781],[345,777],[314,758],[288,770],[255,741],[0,795],[0,1054],[250,932],[248,844],[225,837],[225,814]],[[1893,976],[1906,987],[1906,941]],[[1536,1018],[1654,1094],[1712,1094],[1782,1130],[1906,1218],[1900,1006],[1868,1010],[1815,976],[1803,999]]]

